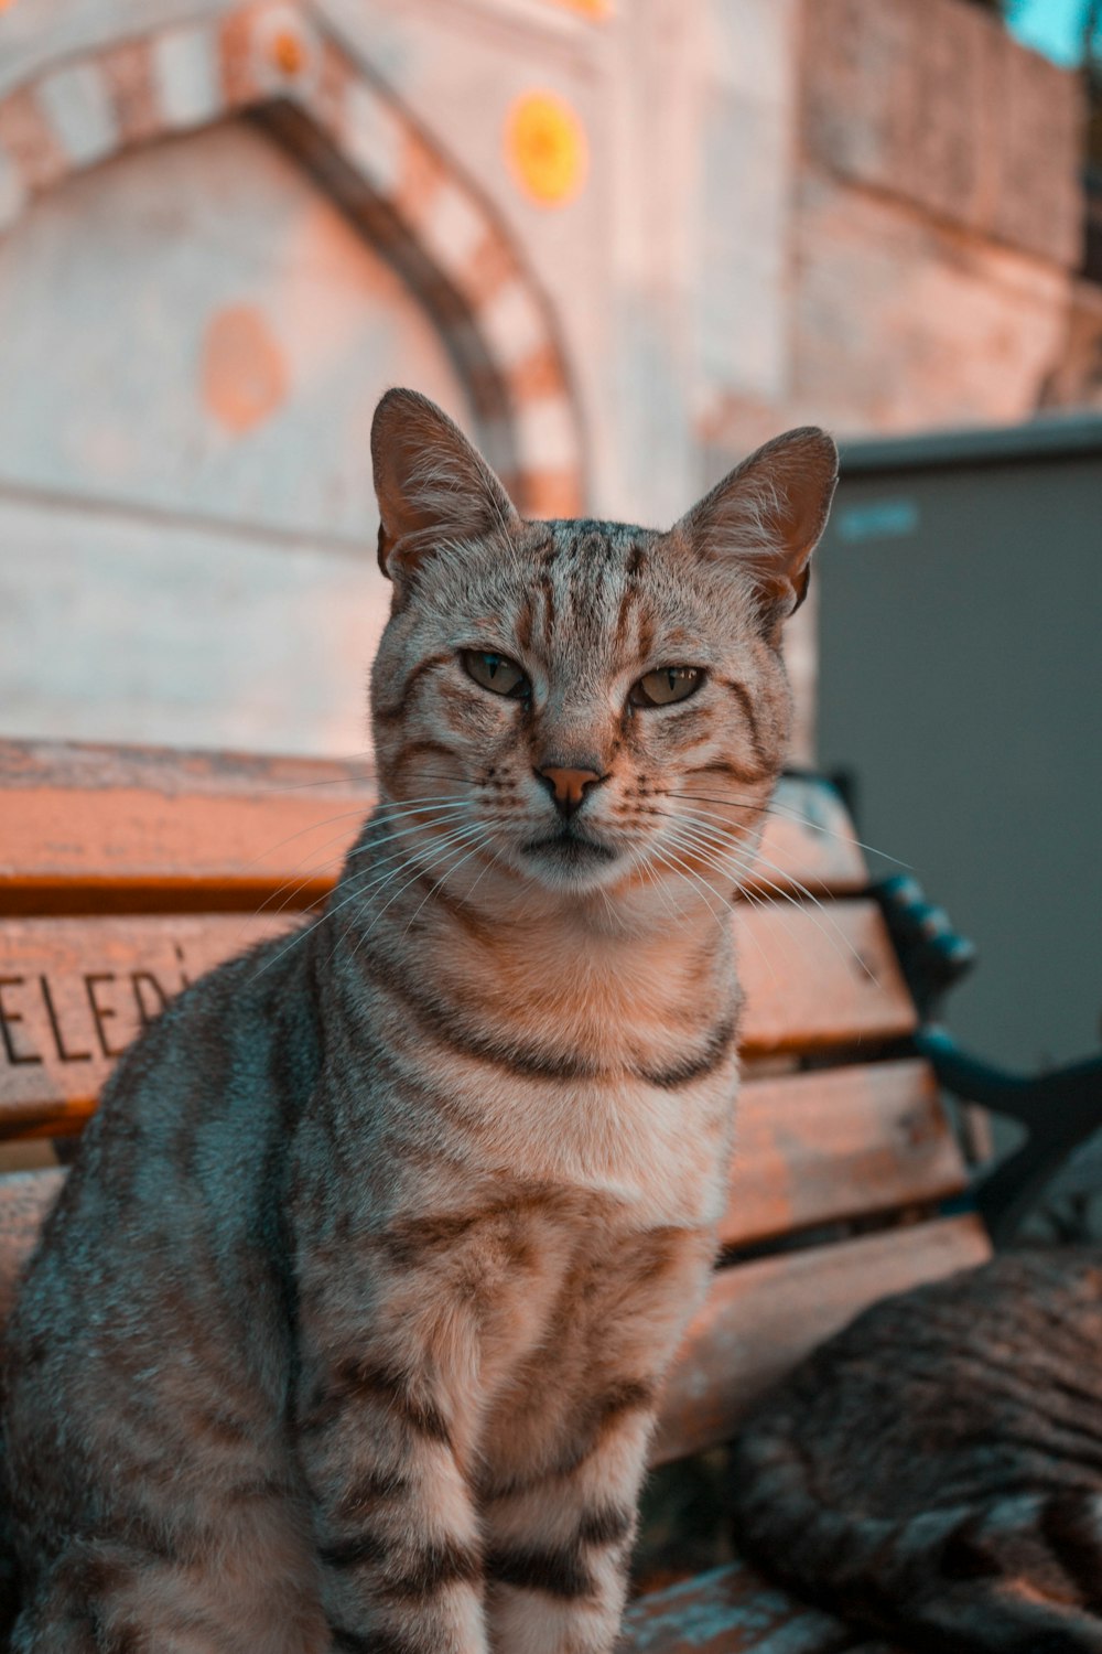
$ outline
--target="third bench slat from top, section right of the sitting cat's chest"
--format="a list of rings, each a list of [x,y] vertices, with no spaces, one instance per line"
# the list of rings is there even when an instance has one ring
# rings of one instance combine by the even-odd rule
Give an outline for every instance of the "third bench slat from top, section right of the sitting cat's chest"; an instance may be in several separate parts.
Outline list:
[[[925,1062],[819,1068],[742,1088],[727,1245],[958,1194],[960,1146]]]

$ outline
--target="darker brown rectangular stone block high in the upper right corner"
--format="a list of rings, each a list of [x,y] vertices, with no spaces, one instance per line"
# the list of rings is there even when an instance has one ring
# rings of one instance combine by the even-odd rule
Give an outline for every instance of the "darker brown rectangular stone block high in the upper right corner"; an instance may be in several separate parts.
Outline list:
[[[1082,106],[1074,74],[960,0],[805,0],[813,164],[1074,266]]]

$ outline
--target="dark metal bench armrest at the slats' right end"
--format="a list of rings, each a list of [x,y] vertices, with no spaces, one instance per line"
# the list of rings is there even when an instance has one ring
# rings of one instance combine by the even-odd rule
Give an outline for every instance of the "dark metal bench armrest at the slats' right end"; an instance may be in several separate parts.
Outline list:
[[[1019,1075],[962,1050],[937,1017],[948,989],[971,969],[975,948],[953,931],[942,908],[925,900],[914,878],[884,880],[874,895],[922,1017],[915,1049],[953,1097],[1008,1115],[1028,1131],[1024,1145],[973,1186],[973,1202],[1001,1245],[1067,1158],[1102,1128],[1102,1057]]]

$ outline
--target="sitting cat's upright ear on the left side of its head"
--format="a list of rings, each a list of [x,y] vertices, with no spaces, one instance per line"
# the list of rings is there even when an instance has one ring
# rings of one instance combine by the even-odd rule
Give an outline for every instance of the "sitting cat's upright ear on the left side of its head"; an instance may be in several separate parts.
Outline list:
[[[388,579],[415,569],[441,543],[520,528],[482,455],[418,390],[388,390],[372,423],[378,498],[378,566]]]

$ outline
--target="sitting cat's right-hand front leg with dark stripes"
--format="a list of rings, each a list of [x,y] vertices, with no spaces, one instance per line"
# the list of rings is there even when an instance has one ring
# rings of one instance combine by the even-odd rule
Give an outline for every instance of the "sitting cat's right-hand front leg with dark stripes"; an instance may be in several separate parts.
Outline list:
[[[714,1250],[710,1229],[674,1227],[591,1247],[555,1341],[496,1416],[482,1485],[494,1654],[613,1649],[663,1383]]]

